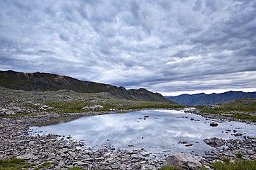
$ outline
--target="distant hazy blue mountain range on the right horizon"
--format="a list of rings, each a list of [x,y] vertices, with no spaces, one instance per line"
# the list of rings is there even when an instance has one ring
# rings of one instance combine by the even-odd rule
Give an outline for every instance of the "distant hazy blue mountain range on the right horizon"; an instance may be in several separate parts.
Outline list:
[[[165,96],[169,100],[172,100],[181,105],[211,105],[219,102],[226,102],[235,100],[237,98],[256,98],[256,92],[225,92],[221,94],[181,94],[179,96]]]

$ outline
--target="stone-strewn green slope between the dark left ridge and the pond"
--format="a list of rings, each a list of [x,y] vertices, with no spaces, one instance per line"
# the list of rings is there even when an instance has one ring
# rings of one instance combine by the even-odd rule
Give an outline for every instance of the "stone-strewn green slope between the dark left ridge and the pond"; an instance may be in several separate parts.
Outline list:
[[[166,102],[120,99],[107,92],[95,94],[77,93],[71,90],[33,92],[0,87],[0,116],[6,118],[48,113],[62,114],[180,106]]]

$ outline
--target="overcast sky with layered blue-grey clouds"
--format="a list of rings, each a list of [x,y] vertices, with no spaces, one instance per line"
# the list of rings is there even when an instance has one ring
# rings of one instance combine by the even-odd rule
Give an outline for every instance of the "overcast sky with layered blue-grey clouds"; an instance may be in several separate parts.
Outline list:
[[[256,92],[256,1],[1,0],[0,70],[173,96]]]

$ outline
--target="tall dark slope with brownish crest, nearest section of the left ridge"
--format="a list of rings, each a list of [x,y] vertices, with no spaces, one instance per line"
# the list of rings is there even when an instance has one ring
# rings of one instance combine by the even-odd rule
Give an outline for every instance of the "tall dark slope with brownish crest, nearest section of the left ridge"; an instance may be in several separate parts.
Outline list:
[[[90,81],[79,81],[68,76],[40,72],[22,73],[0,71],[0,80],[0,86],[2,87],[38,92],[71,89],[75,92],[90,93],[106,91],[108,86],[111,86]]]

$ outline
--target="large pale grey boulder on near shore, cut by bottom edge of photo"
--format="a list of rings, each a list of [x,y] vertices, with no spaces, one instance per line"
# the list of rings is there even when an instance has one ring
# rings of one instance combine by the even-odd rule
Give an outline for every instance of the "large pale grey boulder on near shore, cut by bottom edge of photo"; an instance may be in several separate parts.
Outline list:
[[[202,167],[203,158],[198,156],[192,156],[187,153],[175,153],[174,155],[168,156],[164,162],[165,167],[176,167],[183,169],[199,169]]]

